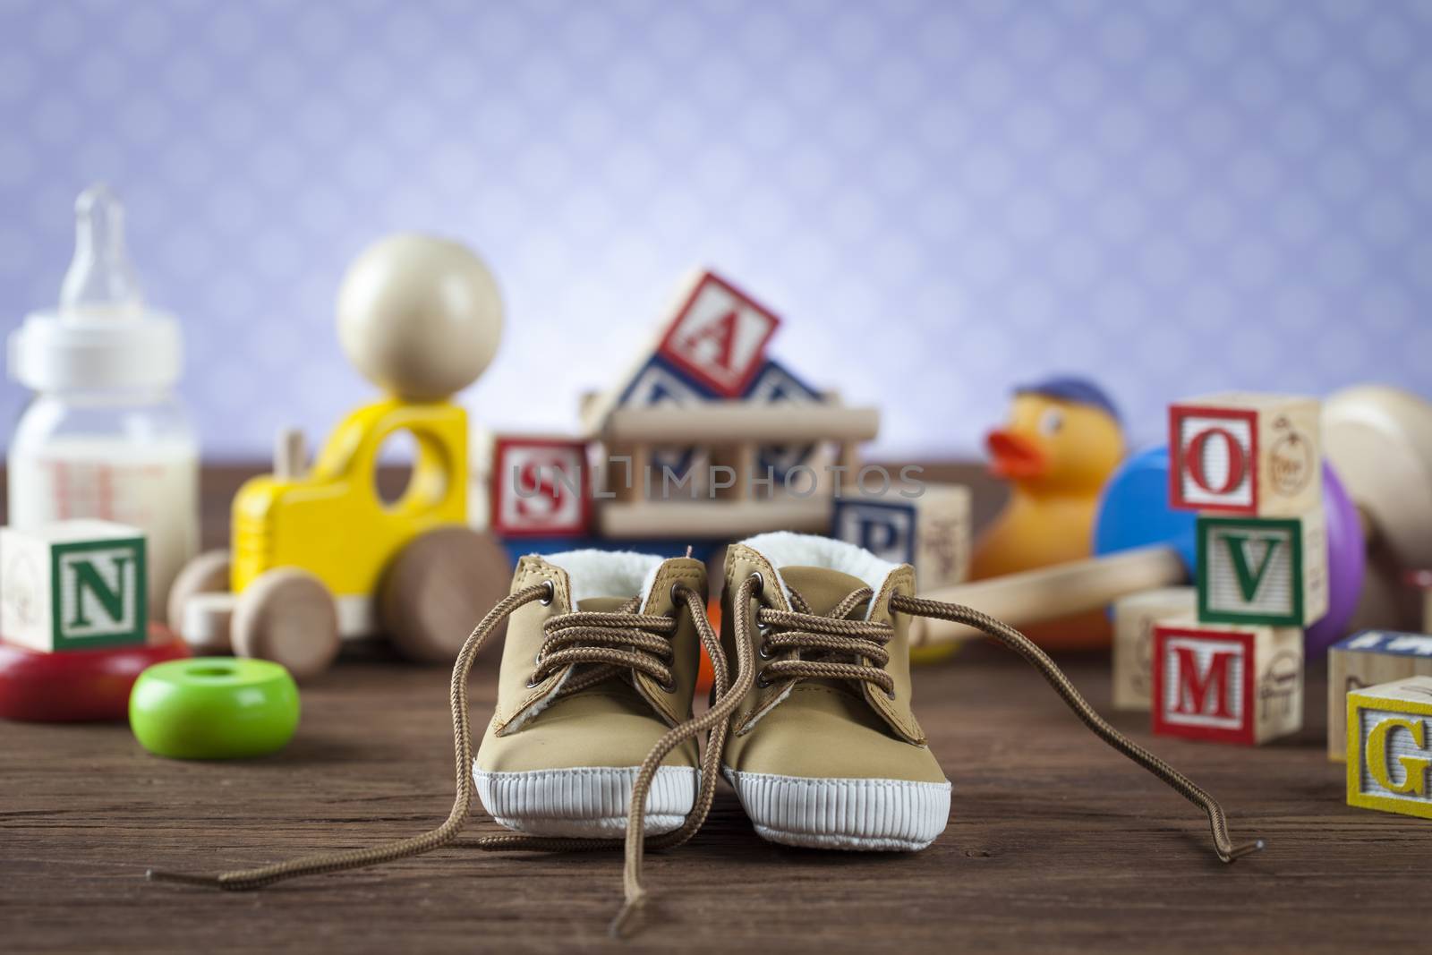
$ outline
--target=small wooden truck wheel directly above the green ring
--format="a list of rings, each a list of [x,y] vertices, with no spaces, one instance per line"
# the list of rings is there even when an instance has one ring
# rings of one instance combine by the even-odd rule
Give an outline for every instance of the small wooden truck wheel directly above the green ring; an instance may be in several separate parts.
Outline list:
[[[318,577],[296,567],[259,574],[233,607],[233,653],[282,663],[295,680],[338,656],[338,609]]]

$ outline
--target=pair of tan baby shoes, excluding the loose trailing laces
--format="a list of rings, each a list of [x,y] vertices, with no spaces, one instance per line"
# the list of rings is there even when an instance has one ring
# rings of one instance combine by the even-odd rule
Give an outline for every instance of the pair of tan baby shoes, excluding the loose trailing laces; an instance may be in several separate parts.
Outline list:
[[[773,842],[928,846],[949,818],[949,780],[911,713],[905,627],[889,606],[914,590],[909,567],[823,537],[765,534],[727,550],[725,576],[727,667],[716,669],[729,670],[740,640],[753,674],[727,702],[709,766],[690,739],[664,755],[643,832],[679,830],[716,770]],[[531,586],[550,593],[508,621],[477,792],[517,832],[621,836],[647,753],[693,719],[700,639],[686,607],[705,613],[706,568],[571,551],[524,557],[513,590]]]

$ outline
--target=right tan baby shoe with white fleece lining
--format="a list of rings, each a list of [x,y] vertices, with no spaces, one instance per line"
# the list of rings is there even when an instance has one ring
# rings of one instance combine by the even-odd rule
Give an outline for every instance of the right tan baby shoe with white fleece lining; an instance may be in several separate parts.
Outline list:
[[[733,606],[756,580],[749,606]],[[819,849],[924,849],[949,818],[949,780],[909,710],[909,566],[825,537],[762,534],[726,551],[722,643],[762,613],[756,680],[722,770],[756,832]]]

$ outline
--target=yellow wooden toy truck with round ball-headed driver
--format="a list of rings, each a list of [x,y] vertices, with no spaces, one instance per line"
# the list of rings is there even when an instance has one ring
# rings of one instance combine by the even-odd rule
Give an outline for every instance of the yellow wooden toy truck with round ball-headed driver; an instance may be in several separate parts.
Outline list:
[[[505,551],[467,525],[467,412],[448,398],[497,351],[501,299],[464,246],[397,235],[344,276],[338,331],[348,358],[388,397],[358,408],[305,467],[281,434],[274,472],[233,498],[232,551],[192,561],[169,596],[192,646],[314,676],[341,639],[388,634],[407,656],[451,660],[505,593]],[[414,444],[405,490],[387,500],[378,465],[398,434]]]

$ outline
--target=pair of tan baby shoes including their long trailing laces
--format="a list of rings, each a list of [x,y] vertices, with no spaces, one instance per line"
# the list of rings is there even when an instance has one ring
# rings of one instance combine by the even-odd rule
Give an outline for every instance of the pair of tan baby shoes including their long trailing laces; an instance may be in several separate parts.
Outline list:
[[[644,898],[646,848],[689,839],[716,777],[756,832],[819,849],[915,850],[949,818],[949,780],[911,712],[912,616],[974,627],[1031,663],[1106,743],[1209,818],[1232,862],[1217,802],[1106,723],[1017,630],[968,607],[915,596],[915,573],[841,541],[762,534],[726,551],[722,627],[706,616],[706,567],[634,553],[524,557],[505,598],[453,667],[457,798],[435,829],[218,876],[150,878],[253,889],[388,862],[457,838],[474,795],[505,829],[485,849],[590,849],[624,840],[620,934]],[[497,709],[473,752],[467,684],[478,650],[507,620]],[[702,649],[715,686],[693,714]],[[700,746],[705,735],[705,747]]]

